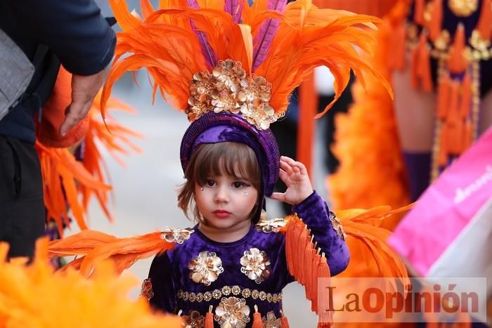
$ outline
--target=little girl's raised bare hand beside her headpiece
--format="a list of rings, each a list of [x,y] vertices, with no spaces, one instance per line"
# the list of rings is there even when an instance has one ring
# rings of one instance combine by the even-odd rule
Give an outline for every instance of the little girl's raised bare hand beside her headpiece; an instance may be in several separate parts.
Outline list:
[[[285,192],[273,192],[271,199],[297,205],[313,193],[306,166],[286,156],[280,157],[280,178],[287,185]]]

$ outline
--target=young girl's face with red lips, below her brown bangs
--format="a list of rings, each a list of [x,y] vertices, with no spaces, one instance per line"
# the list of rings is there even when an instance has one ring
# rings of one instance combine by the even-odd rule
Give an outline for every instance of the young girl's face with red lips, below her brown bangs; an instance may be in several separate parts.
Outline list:
[[[209,176],[204,185],[195,183],[196,205],[212,228],[233,228],[251,219],[257,199],[258,190],[251,183],[228,174]]]

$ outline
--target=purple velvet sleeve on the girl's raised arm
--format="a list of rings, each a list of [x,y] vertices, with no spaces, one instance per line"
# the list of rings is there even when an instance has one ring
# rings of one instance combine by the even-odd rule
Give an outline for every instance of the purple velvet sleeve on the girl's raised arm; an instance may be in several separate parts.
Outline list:
[[[318,242],[318,247],[325,252],[331,275],[338,275],[345,270],[350,260],[349,247],[332,228],[328,218],[330,211],[323,198],[314,191],[303,202],[293,206],[292,210],[311,229],[314,241]]]

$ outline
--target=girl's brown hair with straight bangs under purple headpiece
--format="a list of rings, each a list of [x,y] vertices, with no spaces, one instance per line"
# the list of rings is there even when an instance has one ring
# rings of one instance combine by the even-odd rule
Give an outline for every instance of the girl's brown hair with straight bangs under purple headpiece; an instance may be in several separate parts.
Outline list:
[[[204,143],[199,145],[188,163],[185,171],[186,183],[181,185],[178,195],[178,206],[183,210],[187,218],[190,208],[193,209],[193,218],[202,222],[203,217],[198,211],[193,196],[195,181],[199,185],[205,185],[210,176],[227,174],[239,180],[252,184],[258,190],[258,201],[254,205],[250,218],[256,224],[259,216],[257,213],[261,195],[261,171],[254,151],[243,143]]]

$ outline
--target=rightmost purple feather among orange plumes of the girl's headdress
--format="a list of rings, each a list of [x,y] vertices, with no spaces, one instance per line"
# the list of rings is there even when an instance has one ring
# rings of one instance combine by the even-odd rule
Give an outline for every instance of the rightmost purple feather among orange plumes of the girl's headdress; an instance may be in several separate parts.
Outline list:
[[[266,9],[282,13],[286,4],[287,0],[269,0]],[[259,32],[254,37],[253,70],[256,70],[265,60],[271,41],[277,33],[278,25],[280,25],[278,19],[269,19],[261,23]]]

